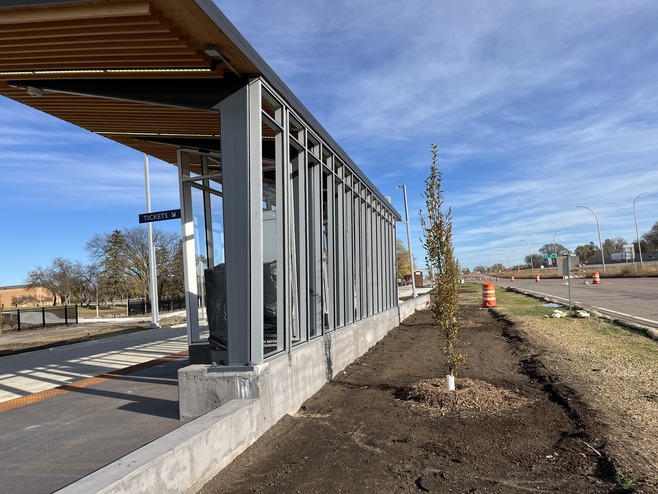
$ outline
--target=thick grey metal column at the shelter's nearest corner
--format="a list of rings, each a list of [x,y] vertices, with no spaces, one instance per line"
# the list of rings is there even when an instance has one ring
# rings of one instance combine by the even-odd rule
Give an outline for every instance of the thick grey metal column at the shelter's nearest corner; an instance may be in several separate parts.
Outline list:
[[[263,361],[261,83],[218,105],[221,114],[228,365]]]

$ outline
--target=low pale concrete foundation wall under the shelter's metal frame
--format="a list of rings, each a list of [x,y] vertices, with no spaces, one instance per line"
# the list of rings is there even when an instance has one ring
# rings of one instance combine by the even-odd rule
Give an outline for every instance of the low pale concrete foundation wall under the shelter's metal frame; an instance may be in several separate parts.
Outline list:
[[[295,413],[398,326],[402,314],[407,317],[428,300],[429,296],[421,296],[296,346],[290,354],[262,365],[181,369],[181,418],[198,418],[59,492],[196,492],[281,417]]]

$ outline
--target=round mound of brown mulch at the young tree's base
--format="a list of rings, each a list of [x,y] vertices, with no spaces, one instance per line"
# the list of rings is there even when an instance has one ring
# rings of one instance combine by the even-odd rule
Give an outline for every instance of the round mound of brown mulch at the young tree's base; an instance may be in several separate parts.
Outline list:
[[[442,416],[464,416],[478,412],[505,414],[531,402],[513,391],[478,379],[457,379],[455,388],[449,391],[445,379],[423,379],[403,387],[396,397],[412,400],[414,406]]]

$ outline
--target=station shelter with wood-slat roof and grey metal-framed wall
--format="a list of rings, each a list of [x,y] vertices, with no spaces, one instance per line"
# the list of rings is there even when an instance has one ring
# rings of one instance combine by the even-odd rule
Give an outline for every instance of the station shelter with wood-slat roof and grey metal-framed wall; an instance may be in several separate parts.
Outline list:
[[[0,94],[178,167],[182,417],[267,369],[275,420],[399,323],[398,212],[211,0],[1,1]]]

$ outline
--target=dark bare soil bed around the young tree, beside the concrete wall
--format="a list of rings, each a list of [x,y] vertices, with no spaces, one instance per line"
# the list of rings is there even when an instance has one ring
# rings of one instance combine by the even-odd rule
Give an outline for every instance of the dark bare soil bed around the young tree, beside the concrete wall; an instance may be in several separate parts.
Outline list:
[[[459,396],[443,391],[431,314],[416,313],[201,492],[624,492],[584,398],[514,325],[463,311]]]

